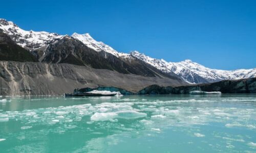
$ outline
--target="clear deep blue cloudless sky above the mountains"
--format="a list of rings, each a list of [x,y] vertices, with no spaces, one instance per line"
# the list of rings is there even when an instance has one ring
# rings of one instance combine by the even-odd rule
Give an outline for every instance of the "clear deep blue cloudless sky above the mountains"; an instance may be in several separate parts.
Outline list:
[[[2,1],[20,28],[90,33],[119,52],[210,68],[256,67],[256,1]]]

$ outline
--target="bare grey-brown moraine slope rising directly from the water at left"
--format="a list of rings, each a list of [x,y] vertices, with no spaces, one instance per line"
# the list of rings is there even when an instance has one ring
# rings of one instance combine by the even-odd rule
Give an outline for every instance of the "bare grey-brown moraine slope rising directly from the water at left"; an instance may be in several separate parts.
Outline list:
[[[137,92],[153,84],[179,86],[183,82],[65,63],[0,61],[0,95],[61,95],[75,88],[97,86]]]

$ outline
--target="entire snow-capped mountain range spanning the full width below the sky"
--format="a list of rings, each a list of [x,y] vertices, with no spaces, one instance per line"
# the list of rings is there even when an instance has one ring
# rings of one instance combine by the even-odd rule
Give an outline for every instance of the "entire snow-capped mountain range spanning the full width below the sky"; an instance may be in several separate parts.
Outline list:
[[[190,60],[175,63],[154,59],[137,51],[131,52],[131,54],[121,53],[101,41],[96,41],[88,33],[63,36],[56,33],[25,31],[12,21],[5,19],[0,19],[1,30],[10,36],[16,44],[28,49],[39,62],[66,62],[78,65],[94,65],[93,67],[96,68],[107,66],[107,68],[114,68],[113,70],[119,72],[152,76],[155,75],[155,70],[160,70],[159,72],[168,75],[175,73],[186,82],[193,84],[256,77],[256,68],[218,70],[204,67]],[[87,49],[88,47],[91,48],[92,52]],[[95,61],[95,59],[99,61]],[[148,73],[149,71],[151,72]]]

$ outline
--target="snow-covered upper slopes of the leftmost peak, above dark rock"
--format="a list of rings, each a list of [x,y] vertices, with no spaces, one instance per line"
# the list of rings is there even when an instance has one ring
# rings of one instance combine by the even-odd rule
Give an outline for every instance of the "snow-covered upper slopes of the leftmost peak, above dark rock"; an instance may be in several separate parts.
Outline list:
[[[61,37],[56,33],[48,33],[44,31],[34,32],[32,30],[25,31],[20,29],[12,21],[7,21],[6,19],[0,19],[0,29],[2,29],[4,33],[8,34],[18,45],[27,48],[28,50],[40,48],[47,45],[47,42],[54,38]]]

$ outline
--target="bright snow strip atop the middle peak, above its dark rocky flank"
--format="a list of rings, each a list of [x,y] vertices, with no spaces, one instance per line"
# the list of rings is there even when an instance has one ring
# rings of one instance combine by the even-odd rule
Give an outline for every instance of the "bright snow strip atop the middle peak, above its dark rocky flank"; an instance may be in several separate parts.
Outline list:
[[[72,35],[73,38],[76,38],[78,40],[80,40],[83,44],[87,45],[88,47],[96,50],[97,52],[100,52],[101,50],[108,52],[110,54],[115,55],[116,57],[128,57],[129,54],[125,54],[125,53],[119,53],[117,52],[115,49],[113,49],[111,46],[104,44],[101,41],[96,41],[95,39],[93,39],[89,33],[86,34],[77,34],[74,33]]]

